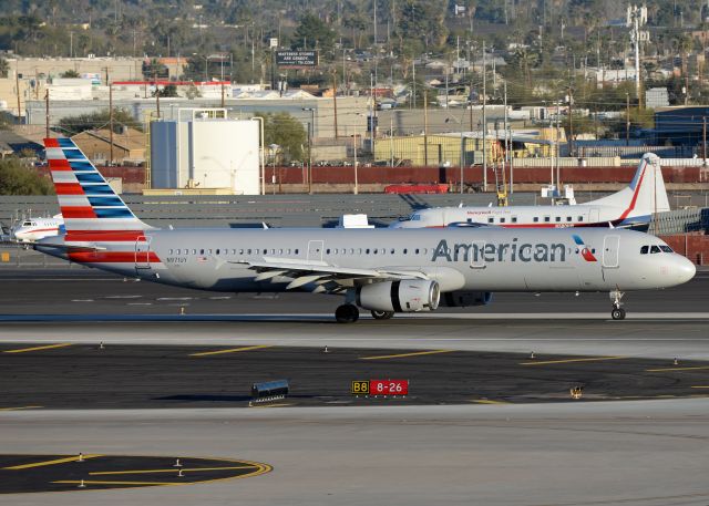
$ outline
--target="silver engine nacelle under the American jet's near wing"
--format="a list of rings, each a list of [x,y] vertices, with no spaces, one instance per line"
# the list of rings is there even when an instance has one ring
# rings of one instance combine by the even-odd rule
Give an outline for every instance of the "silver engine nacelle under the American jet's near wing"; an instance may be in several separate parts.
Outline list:
[[[433,311],[440,298],[439,283],[423,279],[374,282],[357,289],[357,306],[372,311]]]

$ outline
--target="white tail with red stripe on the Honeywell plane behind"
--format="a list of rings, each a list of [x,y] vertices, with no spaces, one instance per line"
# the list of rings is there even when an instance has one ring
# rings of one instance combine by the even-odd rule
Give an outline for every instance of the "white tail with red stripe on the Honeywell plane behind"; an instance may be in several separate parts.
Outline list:
[[[623,208],[625,210],[620,216],[621,219],[645,216],[649,218],[656,213],[670,210],[659,156],[646,153],[627,187],[586,204]]]

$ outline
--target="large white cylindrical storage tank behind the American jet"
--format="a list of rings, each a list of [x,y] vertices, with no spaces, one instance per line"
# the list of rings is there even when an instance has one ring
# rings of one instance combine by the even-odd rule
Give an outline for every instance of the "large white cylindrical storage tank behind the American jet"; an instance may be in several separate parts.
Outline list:
[[[259,194],[258,122],[228,120],[223,109],[181,109],[177,117],[151,123],[152,188]]]

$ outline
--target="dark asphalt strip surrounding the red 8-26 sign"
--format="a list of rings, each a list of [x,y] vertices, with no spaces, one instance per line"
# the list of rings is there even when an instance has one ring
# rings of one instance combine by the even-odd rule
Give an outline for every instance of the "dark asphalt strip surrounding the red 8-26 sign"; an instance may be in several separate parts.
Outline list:
[[[253,383],[281,379],[288,406],[562,402],[575,388],[583,401],[709,396],[709,361],[446,349],[2,344],[0,370],[4,411],[246,407]],[[350,392],[388,379],[409,395]]]

